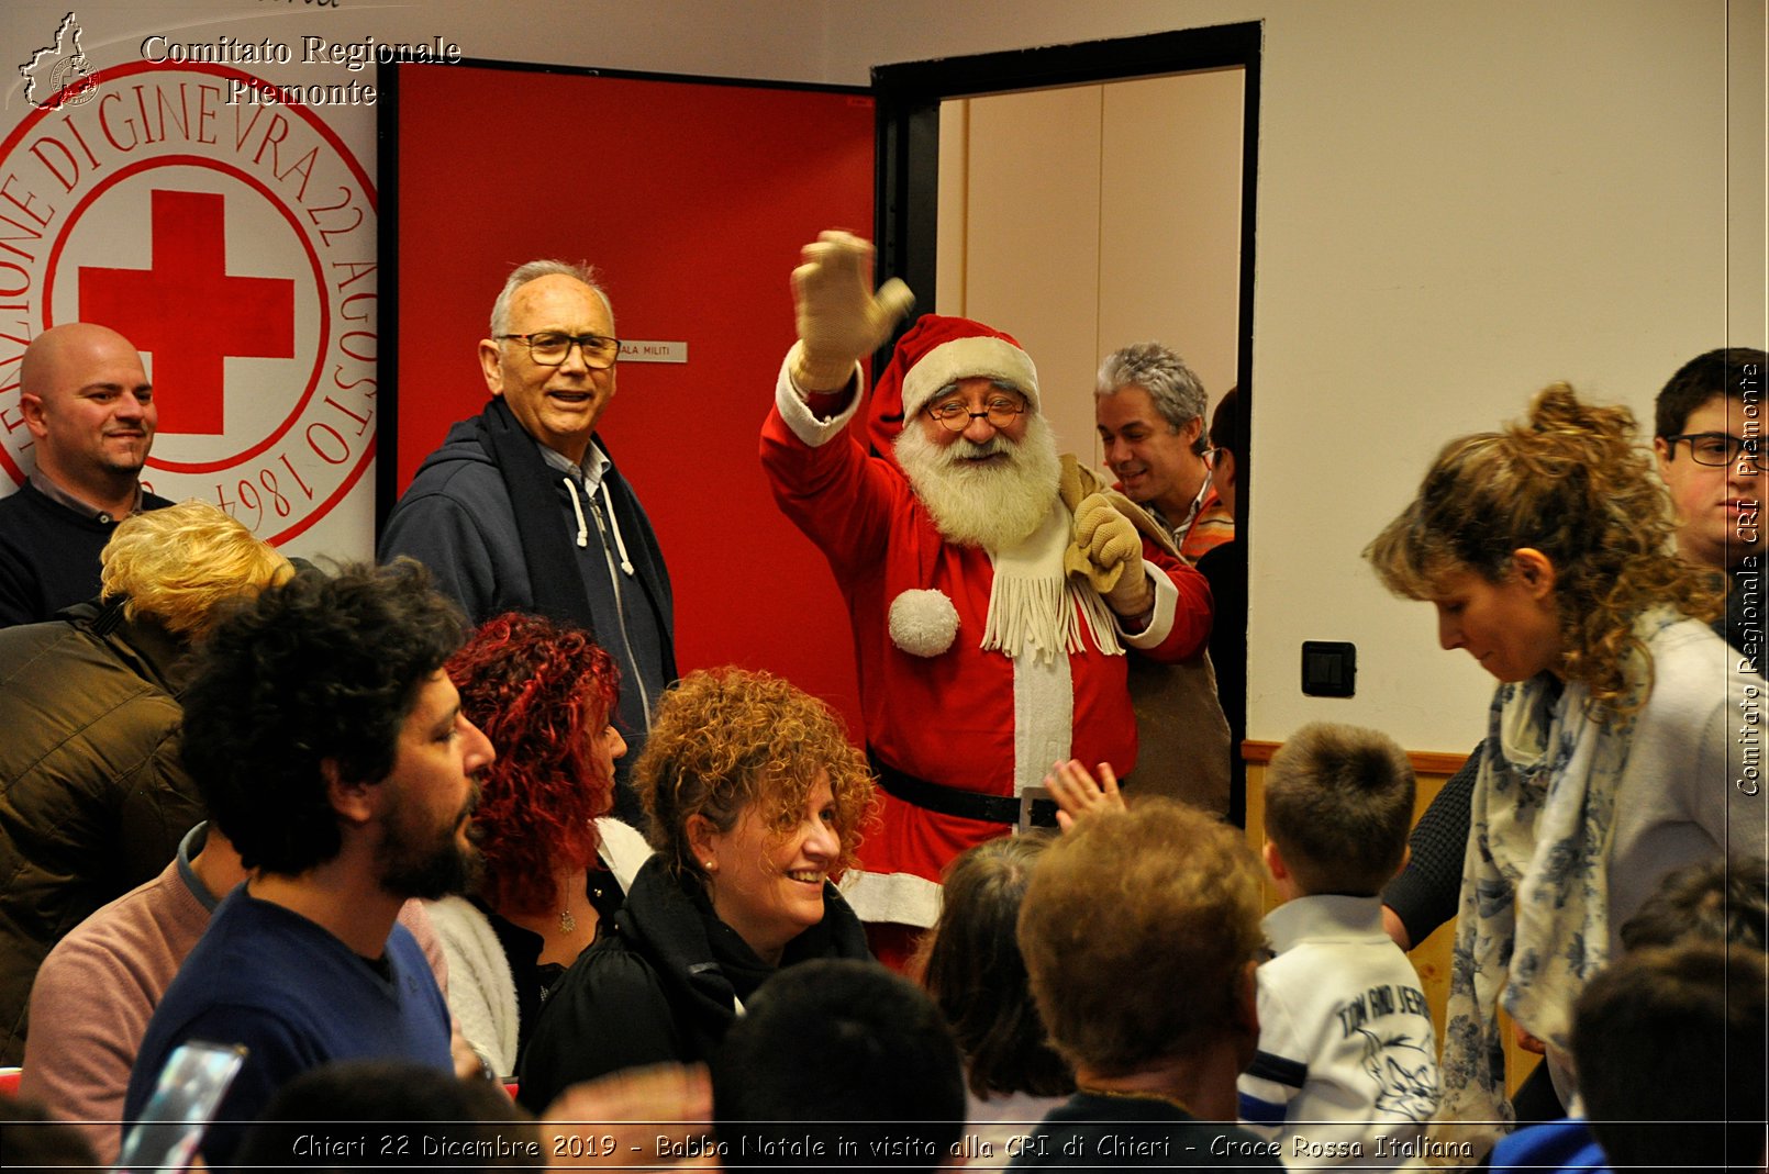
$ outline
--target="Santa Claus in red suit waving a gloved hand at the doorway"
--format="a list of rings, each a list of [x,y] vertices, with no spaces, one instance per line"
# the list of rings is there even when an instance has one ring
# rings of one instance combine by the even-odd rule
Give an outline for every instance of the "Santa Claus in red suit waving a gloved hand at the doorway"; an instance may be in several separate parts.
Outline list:
[[[803,262],[762,467],[847,601],[884,790],[842,888],[862,919],[913,930],[939,912],[946,861],[1022,822],[1054,762],[1132,771],[1127,654],[1198,656],[1210,591],[1141,509],[1058,456],[1031,359],[980,322],[923,315],[902,336],[869,451],[849,426],[858,361],[913,299],[900,281],[872,292],[858,237],[826,232]],[[874,932],[881,955],[906,941]]]

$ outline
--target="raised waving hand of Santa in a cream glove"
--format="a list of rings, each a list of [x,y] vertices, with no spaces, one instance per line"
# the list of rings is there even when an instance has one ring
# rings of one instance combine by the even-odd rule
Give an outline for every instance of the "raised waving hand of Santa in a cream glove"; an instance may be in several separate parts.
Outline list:
[[[892,278],[872,292],[872,242],[846,232],[821,232],[793,271],[798,347],[793,382],[800,391],[840,391],[854,362],[879,348],[909,313],[915,294]]]

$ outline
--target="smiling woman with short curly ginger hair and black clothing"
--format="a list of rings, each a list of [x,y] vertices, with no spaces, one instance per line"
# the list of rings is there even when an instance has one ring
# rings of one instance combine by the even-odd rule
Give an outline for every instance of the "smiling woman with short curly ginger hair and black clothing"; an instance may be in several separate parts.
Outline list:
[[[561,980],[522,1061],[522,1102],[621,1068],[702,1061],[762,980],[870,958],[833,880],[876,799],[823,702],[764,672],[683,677],[633,767],[656,854]]]

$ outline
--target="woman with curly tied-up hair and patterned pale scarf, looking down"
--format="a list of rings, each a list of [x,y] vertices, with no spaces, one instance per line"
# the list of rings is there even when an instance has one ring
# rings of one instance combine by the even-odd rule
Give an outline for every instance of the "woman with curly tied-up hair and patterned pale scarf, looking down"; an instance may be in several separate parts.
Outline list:
[[[1762,679],[1709,628],[1719,592],[1672,553],[1672,534],[1633,414],[1555,384],[1521,424],[1449,442],[1364,552],[1394,594],[1436,606],[1445,649],[1500,681],[1463,865],[1442,1117],[1509,1116],[1489,1066],[1500,992],[1566,1093],[1573,999],[1620,923],[1728,836],[1762,850],[1762,799],[1728,760],[1728,707],[1757,704]]]

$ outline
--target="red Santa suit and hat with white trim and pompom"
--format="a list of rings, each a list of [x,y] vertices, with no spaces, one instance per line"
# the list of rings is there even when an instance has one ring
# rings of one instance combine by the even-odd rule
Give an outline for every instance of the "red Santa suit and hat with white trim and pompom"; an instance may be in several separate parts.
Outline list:
[[[1019,548],[987,552],[941,537],[895,460],[869,454],[849,428],[860,396],[819,419],[789,368],[791,361],[762,426],[762,467],[780,509],[823,550],[847,601],[869,751],[888,767],[886,787],[897,771],[1001,797],[998,808],[1017,812],[1014,797],[1038,785],[1058,759],[1109,762],[1129,774],[1136,714],[1125,649],[1159,661],[1196,656],[1210,635],[1203,576],[1145,539],[1155,608],[1130,633],[1083,578],[1061,575],[1058,555],[1058,594],[1044,610],[1061,631],[1053,647],[1051,622],[1017,624],[1005,598],[992,601],[1010,594],[996,583],[998,568],[1015,566]],[[1037,410],[1037,373],[1012,338],[923,315],[874,389],[876,444],[934,391],[971,375],[1012,380]],[[890,451],[888,440],[877,447]],[[1042,530],[1047,543],[1067,546],[1072,516],[1061,500]],[[932,925],[941,868],[1005,835],[1012,817],[968,819],[888,792],[883,803],[883,827],[862,843],[862,868],[844,879],[844,895],[865,921]]]

